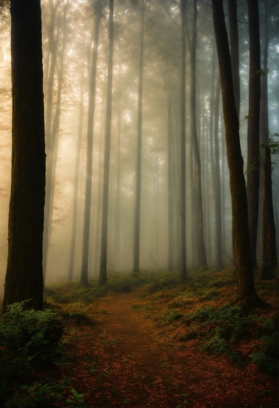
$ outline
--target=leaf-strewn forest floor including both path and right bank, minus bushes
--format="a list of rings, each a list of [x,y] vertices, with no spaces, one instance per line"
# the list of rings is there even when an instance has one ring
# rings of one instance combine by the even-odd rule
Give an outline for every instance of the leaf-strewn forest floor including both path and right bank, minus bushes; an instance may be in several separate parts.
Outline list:
[[[222,310],[236,298],[232,271],[210,274],[183,285],[176,275],[141,287],[124,283],[122,292],[108,290],[93,302],[88,295],[93,288],[81,288],[75,298],[78,284],[54,286],[48,305],[70,318],[64,334],[67,362],[59,377],[72,378],[89,407],[278,407],[278,377],[251,362],[263,340],[249,325],[238,329],[248,335],[224,343],[229,349],[222,340],[217,355],[200,350],[214,324],[208,316],[207,321],[191,316]],[[253,312],[256,319],[272,319],[277,312],[275,281],[257,283],[269,307]],[[235,313],[232,307],[229,314]]]

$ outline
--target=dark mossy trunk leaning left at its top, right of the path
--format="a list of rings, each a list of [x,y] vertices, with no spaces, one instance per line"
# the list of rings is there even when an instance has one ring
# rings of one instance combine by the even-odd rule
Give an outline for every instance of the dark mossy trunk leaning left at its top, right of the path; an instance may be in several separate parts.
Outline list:
[[[237,268],[238,300],[248,298],[259,303],[254,286],[249,243],[248,207],[239,139],[239,119],[234,97],[231,56],[226,30],[223,0],[212,0],[213,23],[217,43],[225,122],[227,158],[232,196],[233,251]]]

